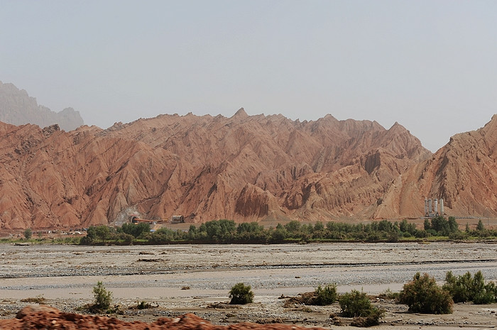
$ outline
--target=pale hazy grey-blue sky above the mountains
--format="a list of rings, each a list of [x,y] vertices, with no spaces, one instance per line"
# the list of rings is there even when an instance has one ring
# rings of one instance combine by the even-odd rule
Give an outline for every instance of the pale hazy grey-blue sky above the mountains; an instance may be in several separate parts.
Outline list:
[[[102,128],[158,114],[395,121],[436,151],[497,113],[497,1],[0,0],[0,81]]]

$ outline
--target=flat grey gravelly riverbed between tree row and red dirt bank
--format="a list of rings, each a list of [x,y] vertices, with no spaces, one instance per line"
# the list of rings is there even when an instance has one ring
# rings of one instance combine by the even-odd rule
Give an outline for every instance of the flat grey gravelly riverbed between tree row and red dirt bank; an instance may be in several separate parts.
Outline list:
[[[0,245],[0,317],[11,318],[33,298],[65,312],[92,302],[104,282],[121,319],[151,321],[194,312],[214,324],[283,321],[336,329],[339,305],[285,306],[283,296],[337,283],[339,292],[378,295],[401,290],[420,271],[443,282],[481,270],[497,280],[497,245],[491,243],[333,243],[215,246],[13,246]],[[253,304],[229,306],[232,285],[244,282]],[[454,314],[410,314],[402,304],[374,299],[386,310],[385,329],[485,329],[497,324],[497,304],[457,304]],[[137,310],[138,302],[153,308]],[[346,324],[346,321],[344,322]],[[341,326],[340,329],[346,329]]]

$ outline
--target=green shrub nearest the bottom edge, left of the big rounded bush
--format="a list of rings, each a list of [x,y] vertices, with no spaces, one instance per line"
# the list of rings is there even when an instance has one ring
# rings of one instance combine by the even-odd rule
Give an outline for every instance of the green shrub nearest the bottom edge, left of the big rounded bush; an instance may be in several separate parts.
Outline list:
[[[342,315],[344,317],[360,317],[358,324],[363,326],[373,326],[378,324],[378,320],[383,317],[384,312],[371,304],[365,292],[352,290],[338,298]],[[367,324],[367,325],[366,325]]]

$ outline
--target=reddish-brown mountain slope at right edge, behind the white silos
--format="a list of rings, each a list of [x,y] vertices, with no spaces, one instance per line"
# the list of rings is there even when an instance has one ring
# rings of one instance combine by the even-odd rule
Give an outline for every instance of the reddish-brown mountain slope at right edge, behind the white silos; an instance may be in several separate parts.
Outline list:
[[[477,131],[459,133],[389,187],[377,218],[420,216],[425,197],[444,199],[453,216],[497,215],[497,115]]]

